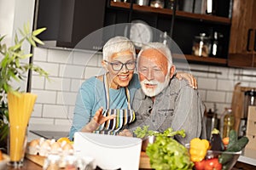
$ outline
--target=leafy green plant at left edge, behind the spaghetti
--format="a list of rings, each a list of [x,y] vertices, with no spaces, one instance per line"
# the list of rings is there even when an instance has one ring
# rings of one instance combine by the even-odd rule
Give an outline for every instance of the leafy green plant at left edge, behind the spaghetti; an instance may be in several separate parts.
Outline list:
[[[15,45],[7,47],[3,43],[3,37],[0,37],[0,147],[6,147],[7,136],[9,133],[9,111],[7,94],[12,93],[19,95],[20,88],[14,88],[13,82],[20,82],[26,78],[27,71],[35,71],[40,76],[47,77],[48,73],[41,67],[32,63],[27,63],[27,59],[32,54],[25,54],[22,49],[24,42],[29,42],[32,47],[36,47],[37,43],[44,44],[38,39],[38,34],[46,28],[40,28],[30,31],[29,24],[25,24],[22,30],[19,29],[21,38],[15,34]]]

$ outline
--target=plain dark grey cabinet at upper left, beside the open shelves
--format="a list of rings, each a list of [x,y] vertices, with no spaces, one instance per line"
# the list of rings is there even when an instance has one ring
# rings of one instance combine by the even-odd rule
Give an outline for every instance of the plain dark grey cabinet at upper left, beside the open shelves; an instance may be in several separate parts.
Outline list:
[[[36,25],[47,28],[39,38],[57,47],[102,48],[102,38],[87,36],[103,27],[106,0],[38,0],[37,4]]]

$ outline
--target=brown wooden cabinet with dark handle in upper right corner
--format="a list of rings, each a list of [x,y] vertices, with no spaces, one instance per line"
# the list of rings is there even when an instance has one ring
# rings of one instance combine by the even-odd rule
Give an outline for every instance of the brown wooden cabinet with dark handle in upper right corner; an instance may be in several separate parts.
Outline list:
[[[234,0],[228,65],[256,67],[256,1]]]

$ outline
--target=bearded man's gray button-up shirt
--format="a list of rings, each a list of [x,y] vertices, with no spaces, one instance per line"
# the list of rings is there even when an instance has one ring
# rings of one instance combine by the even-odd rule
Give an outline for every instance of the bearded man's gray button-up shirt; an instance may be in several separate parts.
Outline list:
[[[198,91],[190,88],[188,82],[172,78],[169,86],[158,94],[154,101],[137,90],[132,102],[136,112],[136,121],[129,126],[132,131],[138,126],[149,125],[149,130],[163,132],[168,127],[173,130],[184,129],[186,137],[177,136],[182,144],[187,144],[195,137],[206,138],[203,122],[205,106],[201,102]]]

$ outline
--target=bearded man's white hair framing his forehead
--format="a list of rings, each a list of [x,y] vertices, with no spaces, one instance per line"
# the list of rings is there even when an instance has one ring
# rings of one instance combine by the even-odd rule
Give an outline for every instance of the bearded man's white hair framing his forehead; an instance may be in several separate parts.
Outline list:
[[[143,47],[141,48],[139,54],[137,55],[137,60],[138,61],[139,61],[139,58],[140,58],[141,54],[146,49],[156,49],[161,54],[164,54],[166,56],[167,61],[168,61],[168,71],[171,69],[171,67],[172,67],[172,54],[171,54],[171,50],[165,44],[163,44],[161,42],[148,42],[148,43],[143,44]],[[138,62],[137,62],[137,64],[138,64]]]

